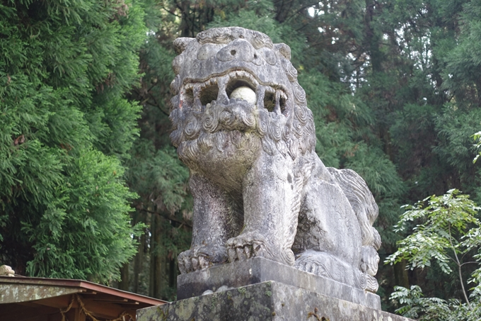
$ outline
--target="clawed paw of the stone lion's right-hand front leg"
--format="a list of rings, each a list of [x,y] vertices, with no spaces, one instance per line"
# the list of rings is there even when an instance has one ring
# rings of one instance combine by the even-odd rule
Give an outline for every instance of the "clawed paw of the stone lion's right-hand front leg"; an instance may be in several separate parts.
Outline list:
[[[226,243],[228,260],[244,261],[250,257],[265,257],[266,240],[257,232],[248,232],[229,239]]]

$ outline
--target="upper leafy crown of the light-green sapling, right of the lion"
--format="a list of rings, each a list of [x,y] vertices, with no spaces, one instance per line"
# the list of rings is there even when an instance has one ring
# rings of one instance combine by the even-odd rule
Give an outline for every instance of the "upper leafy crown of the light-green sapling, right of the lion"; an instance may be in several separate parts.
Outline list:
[[[481,226],[475,217],[481,208],[458,190],[452,189],[443,196],[429,196],[414,206],[405,205],[403,208],[407,210],[395,225],[395,232],[405,231],[410,222],[419,223],[412,227],[412,232],[404,240],[398,242],[398,251],[385,263],[395,264],[405,259],[410,269],[423,269],[430,266],[431,259],[434,259],[441,270],[449,274],[452,269],[448,262],[461,264],[458,255],[475,246],[472,238],[475,234],[468,231]]]

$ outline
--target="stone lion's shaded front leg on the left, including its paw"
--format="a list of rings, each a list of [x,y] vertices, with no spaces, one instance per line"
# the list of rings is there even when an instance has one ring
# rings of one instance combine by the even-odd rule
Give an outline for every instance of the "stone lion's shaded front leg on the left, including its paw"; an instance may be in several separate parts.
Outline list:
[[[226,241],[240,225],[234,202],[225,191],[192,171],[189,185],[194,198],[192,244],[179,254],[182,274],[227,261]]]

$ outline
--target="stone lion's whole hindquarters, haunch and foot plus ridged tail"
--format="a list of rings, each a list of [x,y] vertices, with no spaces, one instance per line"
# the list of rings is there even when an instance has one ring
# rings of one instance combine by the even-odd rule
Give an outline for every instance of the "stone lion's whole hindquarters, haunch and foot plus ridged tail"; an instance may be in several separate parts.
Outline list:
[[[326,169],[318,160],[305,190],[294,266],[375,292],[378,255],[373,240],[379,237],[372,228],[377,206],[369,188],[354,171]]]

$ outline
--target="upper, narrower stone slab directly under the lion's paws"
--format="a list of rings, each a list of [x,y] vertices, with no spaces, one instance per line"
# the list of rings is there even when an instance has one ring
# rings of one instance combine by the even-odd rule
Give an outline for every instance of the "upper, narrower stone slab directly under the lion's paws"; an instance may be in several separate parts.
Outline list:
[[[232,264],[222,264],[209,269],[181,274],[177,278],[177,298],[182,300],[202,295],[205,291],[216,292],[219,288],[239,288],[265,281],[277,281],[332,298],[381,310],[378,295],[359,288],[352,288],[330,278],[300,271],[263,257],[255,257]],[[222,288],[221,288],[222,290]]]

